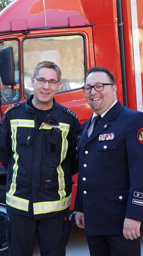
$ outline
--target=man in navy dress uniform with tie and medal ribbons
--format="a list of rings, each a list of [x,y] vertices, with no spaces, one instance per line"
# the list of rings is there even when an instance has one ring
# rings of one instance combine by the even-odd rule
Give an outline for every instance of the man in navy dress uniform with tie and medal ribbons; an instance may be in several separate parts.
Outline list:
[[[104,67],[89,69],[82,88],[94,113],[77,146],[77,226],[85,228],[91,256],[140,256],[143,112],[121,105]]]

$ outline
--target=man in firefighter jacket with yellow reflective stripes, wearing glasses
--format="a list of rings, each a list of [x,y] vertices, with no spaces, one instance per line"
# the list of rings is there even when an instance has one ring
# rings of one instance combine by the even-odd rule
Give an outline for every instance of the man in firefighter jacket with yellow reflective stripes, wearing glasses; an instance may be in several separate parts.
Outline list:
[[[38,231],[40,255],[66,254],[65,216],[81,125],[76,114],[54,99],[61,70],[37,64],[34,94],[13,104],[0,124],[0,161],[7,169],[6,230],[9,255],[32,256]]]

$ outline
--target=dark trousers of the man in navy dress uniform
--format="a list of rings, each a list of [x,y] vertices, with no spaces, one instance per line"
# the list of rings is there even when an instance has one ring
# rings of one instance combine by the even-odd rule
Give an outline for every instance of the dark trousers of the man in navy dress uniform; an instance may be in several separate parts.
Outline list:
[[[140,256],[140,237],[125,239],[123,235],[87,236],[91,256]]]

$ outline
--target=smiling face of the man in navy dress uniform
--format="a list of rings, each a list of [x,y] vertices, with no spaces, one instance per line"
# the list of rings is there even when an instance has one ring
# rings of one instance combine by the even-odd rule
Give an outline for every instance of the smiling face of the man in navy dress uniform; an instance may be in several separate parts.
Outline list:
[[[98,83],[111,83],[111,80],[106,73],[96,71],[87,76],[85,86],[93,86]],[[103,91],[96,92],[96,90],[92,88],[91,93],[85,93],[85,97],[93,111],[101,115],[109,109],[117,99],[116,90],[116,85],[104,85]]]

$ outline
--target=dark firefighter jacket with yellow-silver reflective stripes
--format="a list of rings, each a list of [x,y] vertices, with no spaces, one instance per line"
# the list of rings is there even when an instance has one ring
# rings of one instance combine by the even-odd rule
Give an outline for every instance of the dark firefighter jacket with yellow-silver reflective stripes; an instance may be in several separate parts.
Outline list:
[[[7,169],[7,208],[46,218],[69,210],[76,142],[81,125],[74,112],[54,104],[38,128],[30,100],[10,106],[0,124],[0,161]]]

